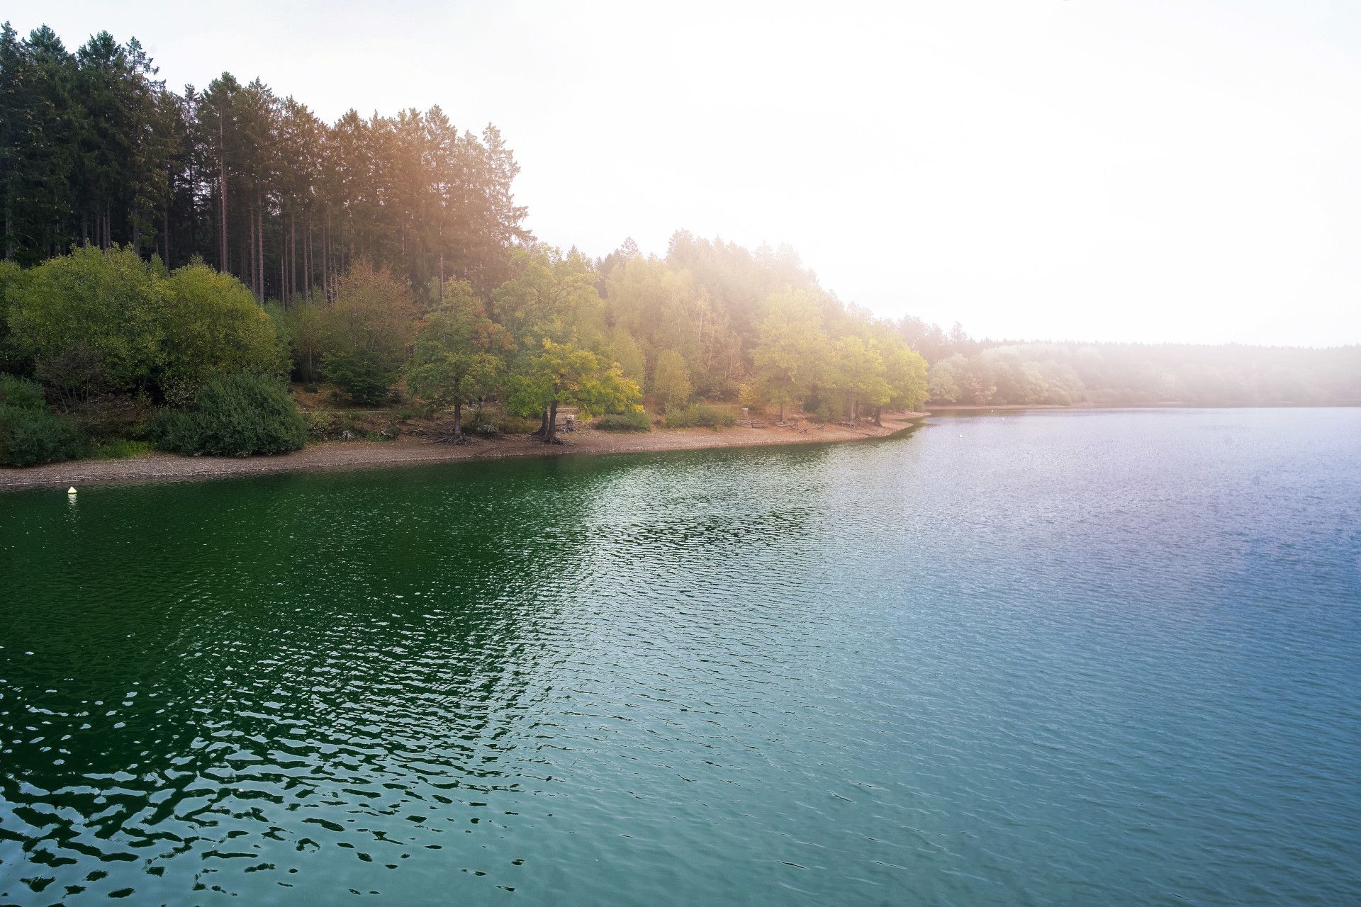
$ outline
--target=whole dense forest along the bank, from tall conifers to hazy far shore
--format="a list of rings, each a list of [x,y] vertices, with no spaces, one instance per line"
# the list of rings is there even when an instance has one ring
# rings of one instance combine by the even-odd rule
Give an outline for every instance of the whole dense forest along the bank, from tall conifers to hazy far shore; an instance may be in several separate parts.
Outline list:
[[[663,257],[626,241],[591,260],[524,227],[491,125],[438,107],[327,124],[259,79],[157,75],[136,39],[0,31],[0,462],[118,434],[291,449],[309,427],[290,378],[446,412],[452,441],[470,405],[553,442],[559,405],[641,430],[642,403],[679,426],[736,405],[853,423],[928,398],[1361,400],[1357,347],[974,340],[845,305],[791,249],[685,231]],[[257,411],[276,424],[238,443]]]

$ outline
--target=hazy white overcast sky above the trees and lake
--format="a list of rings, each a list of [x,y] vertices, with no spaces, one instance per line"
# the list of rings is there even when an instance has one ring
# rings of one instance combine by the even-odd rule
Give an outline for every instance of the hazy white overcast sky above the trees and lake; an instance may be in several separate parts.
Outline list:
[[[1361,341],[1361,4],[11,4],[171,86],[495,122],[529,227],[604,254],[788,242],[977,336]]]

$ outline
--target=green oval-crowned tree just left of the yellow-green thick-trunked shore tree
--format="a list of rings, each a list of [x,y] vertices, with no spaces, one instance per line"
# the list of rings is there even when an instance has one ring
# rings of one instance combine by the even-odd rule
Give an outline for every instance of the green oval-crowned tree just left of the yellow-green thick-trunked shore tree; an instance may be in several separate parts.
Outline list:
[[[464,443],[463,407],[495,389],[505,366],[501,354],[513,341],[487,318],[472,284],[450,280],[444,299],[416,336],[407,388],[441,408],[453,407],[453,432],[441,441]]]

